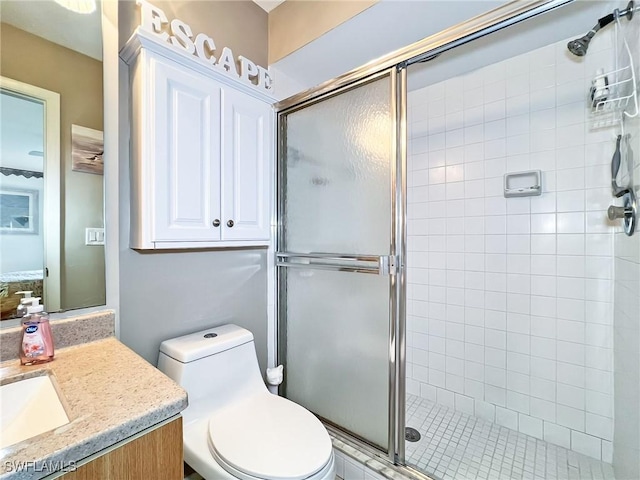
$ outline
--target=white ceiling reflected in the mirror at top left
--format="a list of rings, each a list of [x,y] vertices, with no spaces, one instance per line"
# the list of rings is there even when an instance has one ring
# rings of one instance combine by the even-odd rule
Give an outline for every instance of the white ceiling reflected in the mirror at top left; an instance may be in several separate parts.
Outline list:
[[[93,13],[80,14],[53,0],[1,0],[0,18],[50,42],[102,60],[101,0]]]

